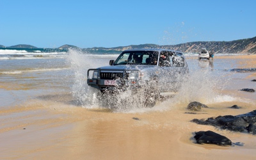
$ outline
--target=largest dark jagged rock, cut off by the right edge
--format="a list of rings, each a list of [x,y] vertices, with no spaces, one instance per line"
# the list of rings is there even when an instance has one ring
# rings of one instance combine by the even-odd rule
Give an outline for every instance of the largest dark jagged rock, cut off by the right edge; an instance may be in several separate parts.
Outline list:
[[[214,127],[220,127],[220,129],[228,129],[230,131],[256,134],[256,110],[237,116],[217,116],[216,118],[207,118],[207,120],[193,119],[191,122],[200,125],[213,125]]]

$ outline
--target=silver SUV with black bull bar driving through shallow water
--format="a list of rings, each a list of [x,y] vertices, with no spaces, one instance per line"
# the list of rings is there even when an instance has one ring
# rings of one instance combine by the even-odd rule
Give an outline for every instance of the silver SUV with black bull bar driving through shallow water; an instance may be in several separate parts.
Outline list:
[[[116,90],[140,92],[143,106],[153,107],[159,98],[173,95],[180,88],[188,65],[179,51],[131,49],[123,51],[109,66],[90,68],[87,84],[110,95]]]

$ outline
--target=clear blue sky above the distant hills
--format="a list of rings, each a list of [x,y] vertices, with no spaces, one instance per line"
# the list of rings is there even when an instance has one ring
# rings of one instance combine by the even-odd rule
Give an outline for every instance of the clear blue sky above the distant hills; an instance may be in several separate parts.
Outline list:
[[[118,47],[256,36],[255,0],[0,0],[0,45]]]

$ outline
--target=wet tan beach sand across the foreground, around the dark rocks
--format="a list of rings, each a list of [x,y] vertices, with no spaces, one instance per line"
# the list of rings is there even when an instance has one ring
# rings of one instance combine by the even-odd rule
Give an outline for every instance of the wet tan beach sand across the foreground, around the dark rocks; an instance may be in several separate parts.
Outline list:
[[[241,68],[256,68],[256,55],[215,56],[214,63],[228,59],[237,60],[236,66]],[[209,108],[196,115],[185,114],[188,102],[173,102],[177,99],[128,113],[83,108],[72,102],[67,92],[28,99],[0,110],[0,159],[255,159],[255,135],[190,122],[256,109],[255,93],[238,90],[248,86],[256,89],[251,79],[256,79],[255,72],[235,79],[234,87],[216,91],[241,99],[206,100],[203,103]],[[228,108],[234,104],[242,108]],[[196,144],[193,132],[209,130],[244,145]]]

